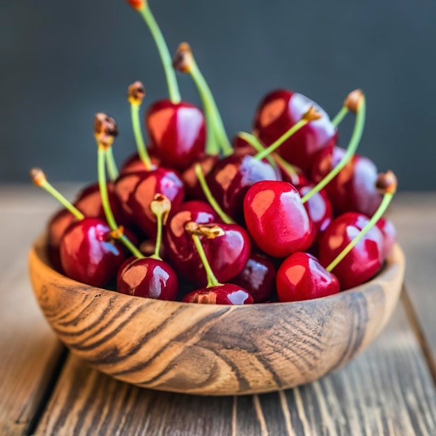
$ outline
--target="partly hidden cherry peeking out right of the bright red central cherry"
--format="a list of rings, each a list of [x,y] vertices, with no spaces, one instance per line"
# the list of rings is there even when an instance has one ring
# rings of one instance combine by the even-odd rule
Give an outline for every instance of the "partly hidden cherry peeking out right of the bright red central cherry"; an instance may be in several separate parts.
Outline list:
[[[296,189],[300,196],[303,197],[310,192],[314,186],[315,185],[311,183],[306,183],[305,185],[297,186]],[[313,239],[318,240],[332,222],[332,202],[329,200],[325,190],[321,189],[320,192],[311,196],[311,198],[304,203],[304,208],[306,208],[307,215],[309,215],[313,224],[313,232],[315,233]]]

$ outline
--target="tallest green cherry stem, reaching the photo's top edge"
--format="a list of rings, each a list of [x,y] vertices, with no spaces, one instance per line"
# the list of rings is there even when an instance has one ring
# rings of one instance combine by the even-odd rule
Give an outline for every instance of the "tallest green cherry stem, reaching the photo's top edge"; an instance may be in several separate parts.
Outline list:
[[[168,46],[166,45],[165,38],[162,35],[162,31],[157,24],[153,13],[148,7],[148,1],[143,2],[143,6],[139,9],[139,13],[142,15],[144,21],[146,22],[148,29],[155,40],[157,50],[159,51],[159,56],[164,65],[164,72],[166,77],[166,83],[168,84],[169,98],[173,104],[180,103],[180,91],[178,88],[176,71],[173,68],[173,60],[171,59],[171,54],[169,53]]]

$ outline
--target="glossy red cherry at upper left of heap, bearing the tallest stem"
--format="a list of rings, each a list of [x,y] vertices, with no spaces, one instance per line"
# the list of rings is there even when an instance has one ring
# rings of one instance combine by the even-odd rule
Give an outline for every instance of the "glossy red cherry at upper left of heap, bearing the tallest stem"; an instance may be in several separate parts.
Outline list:
[[[203,112],[186,102],[159,100],[146,113],[150,149],[163,166],[183,171],[205,153]]]

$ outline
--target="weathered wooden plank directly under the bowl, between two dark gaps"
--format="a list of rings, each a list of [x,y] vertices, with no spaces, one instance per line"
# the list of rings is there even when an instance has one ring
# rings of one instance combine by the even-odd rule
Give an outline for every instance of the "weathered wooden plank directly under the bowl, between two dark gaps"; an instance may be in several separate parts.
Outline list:
[[[436,391],[401,306],[348,366],[282,394],[159,393],[69,357],[36,435],[432,435]]]

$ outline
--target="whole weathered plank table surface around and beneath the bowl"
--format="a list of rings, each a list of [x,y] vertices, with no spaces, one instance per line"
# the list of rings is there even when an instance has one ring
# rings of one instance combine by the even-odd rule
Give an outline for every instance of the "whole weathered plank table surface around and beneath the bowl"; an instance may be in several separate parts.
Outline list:
[[[68,354],[26,265],[56,207],[36,188],[0,187],[0,435],[436,435],[436,194],[398,194],[391,207],[405,289],[377,341],[318,382],[239,398],[137,389]]]

